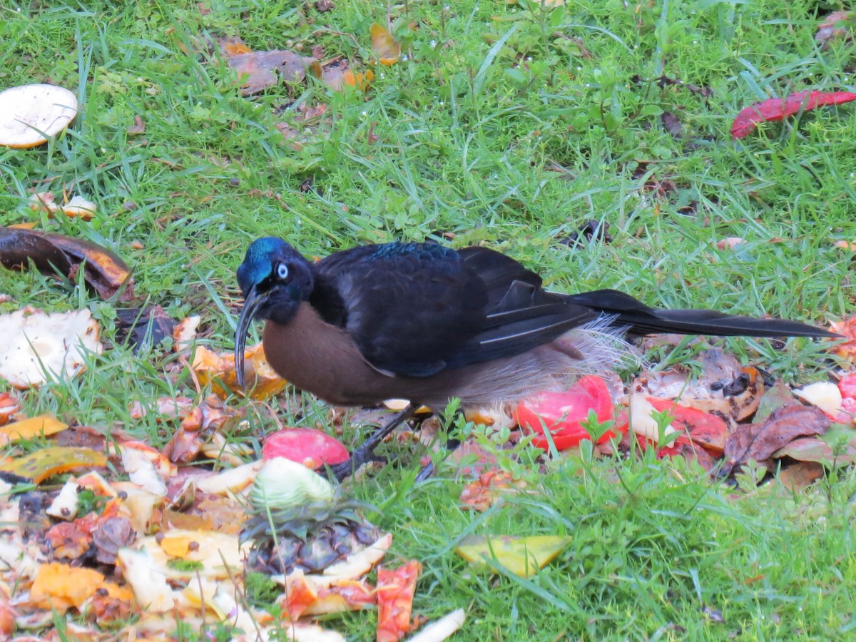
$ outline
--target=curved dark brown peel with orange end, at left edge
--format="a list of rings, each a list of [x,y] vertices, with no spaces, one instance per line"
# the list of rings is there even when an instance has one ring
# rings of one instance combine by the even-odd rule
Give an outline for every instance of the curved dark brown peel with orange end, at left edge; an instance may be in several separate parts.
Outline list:
[[[109,299],[121,288],[125,289],[120,300],[134,298],[134,279],[128,265],[110,250],[51,232],[0,227],[0,265],[23,270],[29,261],[45,274],[59,273],[72,280],[83,265],[86,283],[102,299]]]

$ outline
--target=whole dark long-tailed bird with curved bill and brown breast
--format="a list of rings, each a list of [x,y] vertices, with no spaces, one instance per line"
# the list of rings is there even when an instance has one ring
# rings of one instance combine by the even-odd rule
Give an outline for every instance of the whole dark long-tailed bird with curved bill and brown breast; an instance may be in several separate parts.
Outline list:
[[[779,318],[704,309],[657,309],[615,289],[562,294],[489,247],[433,241],[363,245],[310,261],[280,238],[247,247],[237,280],[238,383],[253,319],[264,319],[270,366],[295,387],[338,406],[410,402],[332,467],[340,481],[416,408],[517,401],[605,372],[628,337],[685,335],[834,338]]]

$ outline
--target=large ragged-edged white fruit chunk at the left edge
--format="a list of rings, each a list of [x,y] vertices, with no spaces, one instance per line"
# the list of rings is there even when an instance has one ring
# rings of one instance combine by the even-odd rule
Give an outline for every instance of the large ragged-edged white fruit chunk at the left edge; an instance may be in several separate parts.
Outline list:
[[[0,378],[15,388],[74,377],[86,354],[101,354],[98,323],[88,310],[46,314],[27,306],[0,314]]]

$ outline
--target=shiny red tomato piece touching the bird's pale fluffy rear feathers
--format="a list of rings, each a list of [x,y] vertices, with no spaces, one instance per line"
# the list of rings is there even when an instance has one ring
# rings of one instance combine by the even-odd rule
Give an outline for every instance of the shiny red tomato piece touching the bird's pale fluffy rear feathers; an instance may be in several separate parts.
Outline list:
[[[556,449],[565,450],[580,445],[584,439],[591,439],[581,425],[588,419],[590,410],[594,410],[597,420],[602,423],[614,417],[612,395],[609,395],[606,382],[593,375],[580,378],[563,392],[542,392],[520,401],[514,415],[521,428],[538,435],[532,439],[536,448],[550,448],[544,437],[546,426]],[[612,437],[615,437],[615,432],[609,430],[597,442],[603,443]]]

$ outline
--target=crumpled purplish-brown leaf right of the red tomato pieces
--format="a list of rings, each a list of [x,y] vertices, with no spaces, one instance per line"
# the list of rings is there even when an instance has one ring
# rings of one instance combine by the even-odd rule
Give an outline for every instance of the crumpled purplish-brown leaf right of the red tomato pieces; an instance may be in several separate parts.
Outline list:
[[[779,408],[759,424],[743,424],[728,435],[725,442],[725,465],[729,474],[749,460],[764,461],[797,437],[822,435],[829,419],[820,408],[791,405]]]

